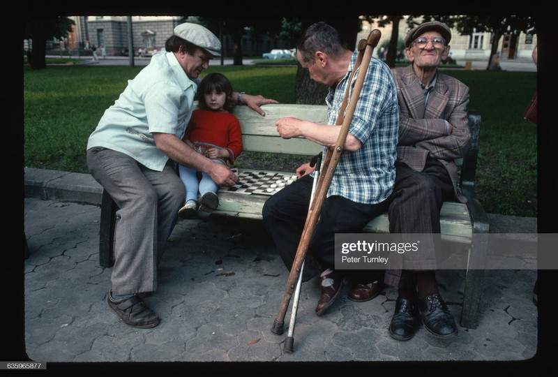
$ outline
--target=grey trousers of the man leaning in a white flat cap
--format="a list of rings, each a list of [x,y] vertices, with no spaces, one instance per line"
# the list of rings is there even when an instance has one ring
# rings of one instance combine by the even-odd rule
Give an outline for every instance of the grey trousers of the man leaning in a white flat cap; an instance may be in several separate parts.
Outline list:
[[[127,295],[157,290],[158,261],[184,203],[184,184],[172,163],[158,172],[126,154],[101,147],[87,151],[87,166],[119,207],[112,292]]]

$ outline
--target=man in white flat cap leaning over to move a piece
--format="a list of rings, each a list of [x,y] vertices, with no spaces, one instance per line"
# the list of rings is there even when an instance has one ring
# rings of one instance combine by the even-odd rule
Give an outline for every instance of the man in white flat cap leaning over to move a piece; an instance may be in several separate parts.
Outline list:
[[[220,56],[218,38],[199,24],[174,28],[164,54],[155,54],[110,108],[87,142],[93,178],[118,205],[110,309],[127,325],[155,327],[159,316],[144,302],[157,290],[157,266],[186,195],[174,164],[207,173],[213,182],[233,186],[238,178],[182,141],[192,115],[199,74]],[[234,93],[234,99],[260,108],[277,101]]]

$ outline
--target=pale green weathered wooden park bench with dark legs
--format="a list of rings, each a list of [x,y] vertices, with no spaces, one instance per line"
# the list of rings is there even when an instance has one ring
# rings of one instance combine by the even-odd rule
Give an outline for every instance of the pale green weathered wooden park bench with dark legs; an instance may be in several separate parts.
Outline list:
[[[322,151],[322,147],[303,138],[284,140],[276,131],[275,121],[281,117],[298,117],[326,124],[325,105],[265,105],[265,117],[261,117],[246,106],[237,106],[234,114],[239,118],[243,134],[243,150],[269,152],[277,154],[295,154],[314,156]],[[472,242],[474,233],[488,233],[488,219],[480,202],[475,198],[475,172],[478,154],[478,136],[481,126],[481,115],[469,112],[469,129],[471,139],[464,158],[456,161],[461,166],[460,188],[467,197],[467,204],[444,202],[441,212],[442,240],[467,246],[469,268],[463,290],[463,304],[460,325],[476,328],[478,308],[484,277],[483,269],[472,268],[481,266],[485,258],[486,243]],[[240,172],[249,169],[240,169]],[[262,170],[253,170],[259,172]],[[293,175],[294,172],[280,172]],[[234,216],[248,219],[262,219],[262,207],[269,195],[245,195],[234,192],[219,192],[219,207],[213,214]],[[111,267],[114,263],[113,242],[116,226],[116,204],[103,191],[103,202],[100,214],[99,263],[101,267]],[[213,216],[213,215],[212,215]],[[365,232],[389,232],[387,214],[373,219],[364,229]]]

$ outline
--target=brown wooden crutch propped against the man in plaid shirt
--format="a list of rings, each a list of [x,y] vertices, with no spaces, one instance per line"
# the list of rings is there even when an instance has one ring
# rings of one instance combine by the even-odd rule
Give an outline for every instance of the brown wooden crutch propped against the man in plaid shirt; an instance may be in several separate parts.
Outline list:
[[[319,219],[319,212],[322,210],[322,205],[329,190],[329,185],[331,184],[331,179],[333,178],[333,173],[335,168],[337,168],[337,163],[343,151],[343,146],[345,145],[345,140],[347,139],[347,134],[349,133],[349,125],[351,124],[354,109],[356,108],[356,103],[359,101],[359,95],[361,93],[362,85],[368,71],[368,64],[370,64],[370,59],[372,59],[372,52],[379,42],[379,38],[382,33],[378,30],[370,31],[368,38],[366,40],[361,40],[359,42],[359,55],[356,58],[354,69],[347,83],[347,89],[345,91],[345,96],[343,98],[343,103],[338,114],[338,119],[335,125],[340,125],[340,132],[338,135],[337,142],[333,148],[329,148],[327,154],[324,158],[324,163],[322,164],[322,171],[316,185],[316,195],[312,198],[310,203],[310,209],[308,210],[308,216],[306,216],[306,223],[301,235],[301,241],[299,243],[299,248],[296,250],[296,256],[294,258],[293,265],[291,267],[291,272],[289,274],[289,279],[287,279],[287,285],[285,286],[285,295],[283,295],[282,302],[280,305],[279,313],[273,322],[273,327],[271,327],[271,332],[274,334],[282,334],[283,326],[285,325],[285,313],[289,306],[289,302],[292,297],[293,290],[295,289],[296,281],[299,280],[299,275],[301,274],[301,266],[303,265],[304,259],[306,258],[306,252],[308,251],[308,245],[310,244],[310,239],[314,234],[316,223]],[[351,100],[347,104],[347,99],[349,98],[349,88],[357,68],[361,65],[365,67],[363,74],[356,77],[356,82],[354,84],[353,93]],[[347,112],[345,113],[345,108]]]

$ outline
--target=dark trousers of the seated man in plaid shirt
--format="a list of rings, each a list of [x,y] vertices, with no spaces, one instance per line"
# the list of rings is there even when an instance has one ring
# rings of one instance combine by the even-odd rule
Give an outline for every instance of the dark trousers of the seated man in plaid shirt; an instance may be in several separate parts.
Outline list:
[[[264,227],[275,242],[283,263],[289,271],[306,223],[311,194],[312,177],[305,175],[271,196],[262,209]],[[371,219],[382,214],[386,209],[386,201],[376,205],[366,205],[338,195],[326,198],[308,246],[308,253],[324,269],[328,267],[333,269],[335,265],[335,233],[362,232]],[[340,272],[359,283],[370,283],[383,278],[383,271],[345,270]]]

